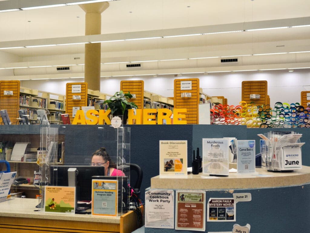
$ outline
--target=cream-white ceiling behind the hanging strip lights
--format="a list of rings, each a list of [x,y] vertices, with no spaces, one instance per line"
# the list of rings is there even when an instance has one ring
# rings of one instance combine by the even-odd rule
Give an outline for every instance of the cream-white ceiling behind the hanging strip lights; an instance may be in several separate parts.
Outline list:
[[[304,18],[310,24],[309,0],[119,0],[101,14],[101,34],[123,37],[133,32],[151,36],[187,34],[201,28],[233,29],[234,24],[248,22],[255,26],[265,21],[272,25],[294,24]],[[0,9],[1,10],[1,9]],[[300,19],[299,19],[300,20]],[[303,19],[301,19],[303,20]],[[79,6],[0,13],[0,47],[3,42],[34,39],[66,38],[85,35],[85,12]],[[211,27],[210,25],[217,25]],[[225,31],[225,30],[224,30]],[[0,50],[0,68],[71,65],[84,63],[84,44],[40,48]],[[140,68],[128,69],[126,64],[102,64],[101,75],[143,75],[182,72],[237,71],[310,67],[310,26],[260,31],[242,31],[175,38],[146,39],[101,43],[101,62],[135,62],[167,59],[181,61],[143,62]],[[237,56],[261,53],[285,53],[260,56]],[[19,56],[18,60],[14,56]],[[221,64],[220,58],[238,57],[238,63]],[[5,57],[5,58],[4,58]],[[80,59],[74,59],[79,57]],[[14,63],[13,63],[14,62]],[[49,78],[83,76],[83,66],[71,66],[59,74],[55,67],[0,70],[2,78]]]

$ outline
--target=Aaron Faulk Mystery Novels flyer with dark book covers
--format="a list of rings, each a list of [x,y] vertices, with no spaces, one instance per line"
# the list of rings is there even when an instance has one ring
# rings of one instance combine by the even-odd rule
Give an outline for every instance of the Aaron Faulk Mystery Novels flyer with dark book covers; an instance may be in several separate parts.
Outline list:
[[[233,198],[210,198],[207,222],[236,222],[236,206]]]

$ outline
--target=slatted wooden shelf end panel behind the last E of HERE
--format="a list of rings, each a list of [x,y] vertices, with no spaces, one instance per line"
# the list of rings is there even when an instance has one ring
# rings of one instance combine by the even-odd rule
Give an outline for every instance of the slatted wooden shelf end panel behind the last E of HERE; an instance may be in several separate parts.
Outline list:
[[[191,82],[191,89],[184,89],[183,82]],[[190,93],[191,97],[182,97],[182,93]],[[198,104],[199,104],[199,79],[175,79],[174,80],[174,107],[187,108],[187,124],[198,124]]]

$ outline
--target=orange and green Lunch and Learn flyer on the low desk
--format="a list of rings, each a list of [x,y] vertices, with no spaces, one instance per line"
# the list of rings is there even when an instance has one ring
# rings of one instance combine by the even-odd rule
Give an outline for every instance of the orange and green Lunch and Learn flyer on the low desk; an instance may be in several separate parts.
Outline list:
[[[75,187],[45,186],[44,211],[75,213]]]

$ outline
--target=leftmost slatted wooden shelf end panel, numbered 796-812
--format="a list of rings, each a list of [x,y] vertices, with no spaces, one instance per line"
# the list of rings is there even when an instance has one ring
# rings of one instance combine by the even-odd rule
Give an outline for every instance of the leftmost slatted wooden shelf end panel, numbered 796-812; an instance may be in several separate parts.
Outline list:
[[[15,125],[17,122],[19,110],[19,93],[20,81],[19,80],[3,80],[0,81],[0,110],[7,109],[10,117],[11,124]],[[3,124],[0,117],[0,124]]]

